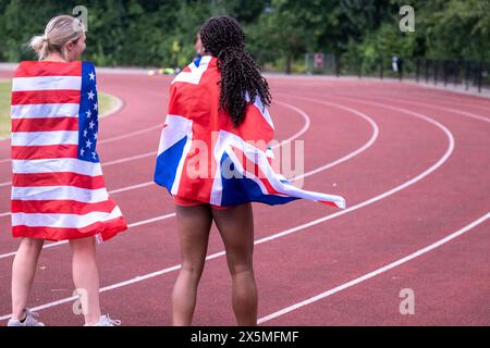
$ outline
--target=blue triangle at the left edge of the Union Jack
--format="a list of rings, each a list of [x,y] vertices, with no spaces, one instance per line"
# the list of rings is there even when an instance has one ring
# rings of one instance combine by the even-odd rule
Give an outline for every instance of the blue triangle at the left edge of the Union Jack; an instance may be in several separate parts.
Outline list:
[[[185,142],[187,142],[187,137],[182,138],[157,157],[154,181],[158,185],[166,187],[169,192],[172,190],[175,182],[175,174],[184,152]]]

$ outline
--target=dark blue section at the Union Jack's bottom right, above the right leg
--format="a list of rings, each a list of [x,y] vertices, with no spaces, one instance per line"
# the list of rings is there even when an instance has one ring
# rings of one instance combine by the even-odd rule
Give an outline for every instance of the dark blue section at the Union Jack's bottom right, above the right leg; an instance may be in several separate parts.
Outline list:
[[[226,152],[224,152],[221,158],[221,167],[229,166],[230,171],[233,172],[235,170],[234,164],[229,161],[231,161],[230,157]],[[293,200],[299,199],[296,197],[265,195],[257,183],[247,177],[240,177],[240,173],[236,173],[231,178],[222,176],[221,183],[223,188],[221,198],[222,207],[237,206],[246,202],[261,202],[269,206],[275,206],[285,204]]]

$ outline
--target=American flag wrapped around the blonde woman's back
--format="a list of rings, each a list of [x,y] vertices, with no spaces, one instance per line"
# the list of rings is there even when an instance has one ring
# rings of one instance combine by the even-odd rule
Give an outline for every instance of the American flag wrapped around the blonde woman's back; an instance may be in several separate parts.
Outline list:
[[[126,229],[99,157],[90,62],[22,62],[12,80],[12,233],[49,240]]]

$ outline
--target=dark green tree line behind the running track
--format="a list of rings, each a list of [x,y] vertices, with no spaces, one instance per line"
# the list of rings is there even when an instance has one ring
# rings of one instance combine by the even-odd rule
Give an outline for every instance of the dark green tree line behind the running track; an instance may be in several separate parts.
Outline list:
[[[34,59],[26,42],[54,15],[81,1],[0,0],[0,61]],[[305,52],[365,62],[383,57],[487,61],[490,0],[85,0],[84,59],[98,65],[184,66],[200,25],[229,14],[243,25],[247,49],[270,69],[291,71]],[[401,32],[400,9],[415,11]]]

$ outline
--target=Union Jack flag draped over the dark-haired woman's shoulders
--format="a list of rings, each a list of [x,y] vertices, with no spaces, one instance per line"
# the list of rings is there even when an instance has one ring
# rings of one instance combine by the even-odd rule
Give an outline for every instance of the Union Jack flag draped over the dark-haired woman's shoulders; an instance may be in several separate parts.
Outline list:
[[[309,199],[345,208],[340,196],[303,190],[271,166],[273,124],[257,97],[245,122],[233,127],[220,110],[217,59],[191,63],[170,87],[169,112],[161,134],[155,182],[173,196],[215,206],[245,202],[282,204]]]

